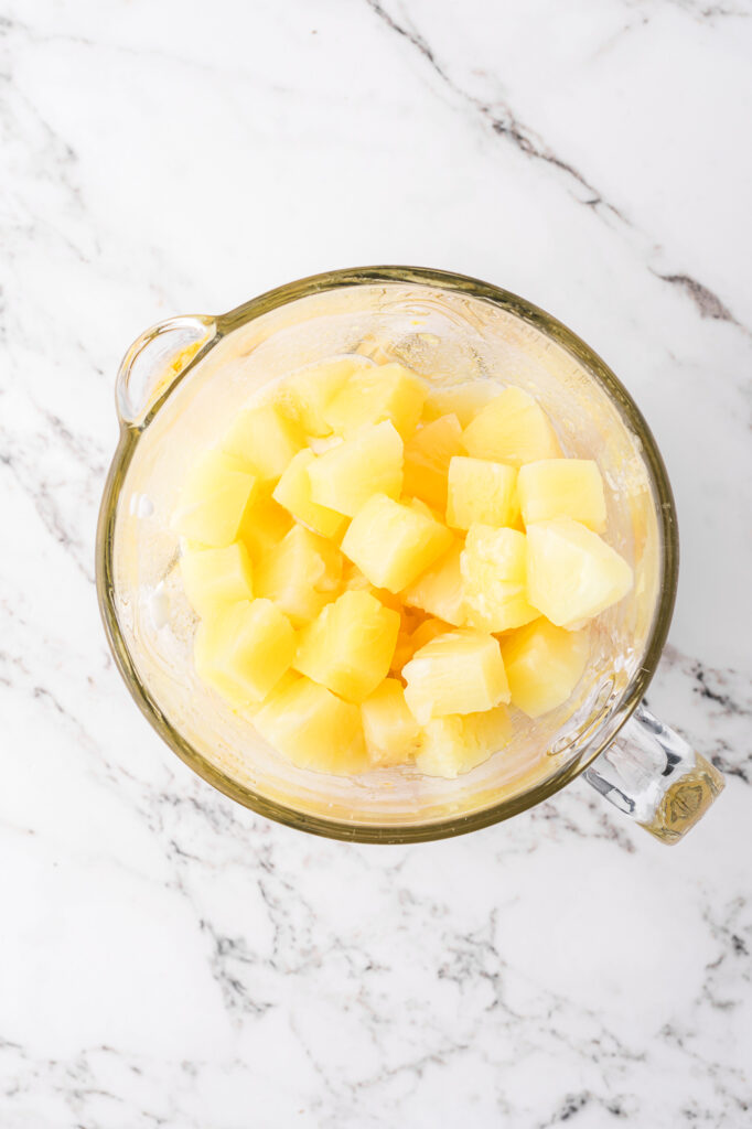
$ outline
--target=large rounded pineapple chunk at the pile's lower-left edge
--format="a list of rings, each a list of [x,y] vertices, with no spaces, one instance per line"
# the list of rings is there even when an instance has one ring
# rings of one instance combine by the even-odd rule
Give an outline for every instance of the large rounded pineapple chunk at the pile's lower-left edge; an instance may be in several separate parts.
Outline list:
[[[195,667],[231,706],[259,702],[295,658],[295,631],[269,599],[242,599],[199,624]]]

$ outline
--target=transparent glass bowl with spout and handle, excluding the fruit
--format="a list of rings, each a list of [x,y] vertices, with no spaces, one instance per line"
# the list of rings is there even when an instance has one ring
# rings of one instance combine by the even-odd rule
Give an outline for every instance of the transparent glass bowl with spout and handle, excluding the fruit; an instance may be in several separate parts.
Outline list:
[[[606,537],[635,569],[631,594],[592,629],[591,662],[571,701],[535,723],[519,718],[510,744],[457,780],[406,767],[355,778],[298,769],[224,708],[193,669],[195,619],[169,528],[186,469],[262,386],[312,361],[355,352],[399,359],[437,385],[496,378],[532,392],[566,452],[597,460],[606,483]],[[674,502],[653,436],[624,388],[548,314],[443,271],[333,271],[220,317],[173,318],[148,331],[123,360],[116,399],[122,432],[97,543],[106,631],[157,732],[233,799],[318,834],[405,842],[508,819],[588,770],[602,795],[670,842],[723,787],[688,746],[682,756],[654,734],[644,741],[647,715],[632,718],[673,610]],[[604,750],[607,761],[598,759]]]

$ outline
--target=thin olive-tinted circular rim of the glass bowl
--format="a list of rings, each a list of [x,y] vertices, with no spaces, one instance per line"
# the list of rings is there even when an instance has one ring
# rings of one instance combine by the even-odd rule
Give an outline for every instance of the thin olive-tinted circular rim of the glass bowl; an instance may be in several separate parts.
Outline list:
[[[161,404],[172,395],[185,376],[200,364],[211,348],[221,341],[222,338],[227,336],[228,333],[231,333],[233,330],[280,306],[289,305],[299,298],[311,297],[329,290],[357,286],[377,286],[378,283],[413,283],[435,289],[452,290],[465,294],[472,298],[489,301],[514,314],[527,324],[533,325],[574,357],[586,369],[588,375],[601,385],[612,402],[617,404],[627,425],[635,431],[642,445],[641,454],[655,492],[656,518],[661,543],[659,596],[650,624],[642,663],[630,680],[618,704],[619,717],[617,724],[607,729],[602,739],[598,739],[596,736],[587,751],[580,754],[572,763],[562,765],[556,772],[551,773],[551,776],[535,784],[530,790],[502,798],[490,804],[488,807],[480,808],[478,812],[464,815],[451,815],[434,822],[414,825],[385,825],[326,819],[308,812],[300,812],[290,805],[271,799],[233,780],[230,776],[222,772],[194,749],[163,714],[159,703],[152,698],[138,674],[117,620],[114,598],[113,548],[121,487],[134,455],[139,436],[148,427]],[[490,282],[434,268],[388,265],[325,271],[324,273],[297,279],[273,290],[268,290],[259,297],[235,307],[229,313],[215,317],[213,322],[217,327],[216,335],[199,350],[172,385],[161,394],[143,422],[138,427],[133,427],[126,425],[121,419],[120,441],[107,473],[99,508],[95,562],[99,612],[115,663],[141,712],[173,752],[198,776],[217,788],[218,791],[266,819],[330,839],[377,843],[426,842],[436,839],[446,839],[510,819],[513,815],[518,815],[556,795],[556,793],[584,772],[596,756],[613,742],[619,729],[629,720],[639,701],[645,695],[663,653],[676,597],[679,531],[675,502],[668,475],[647,421],[619,378],[582,338],[562,322],[558,321],[558,318],[533,303]],[[603,724],[601,727],[605,728]]]

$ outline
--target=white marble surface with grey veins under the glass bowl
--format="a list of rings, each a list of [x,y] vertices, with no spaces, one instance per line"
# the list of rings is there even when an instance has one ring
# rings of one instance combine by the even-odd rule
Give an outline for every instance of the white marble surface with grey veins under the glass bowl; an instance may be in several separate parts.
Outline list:
[[[752,1124],[752,5],[7,0],[0,45],[0,1124]],[[681,847],[583,782],[320,841],[128,697],[93,583],[121,353],[378,262],[549,308],[655,429],[650,704],[728,773]]]

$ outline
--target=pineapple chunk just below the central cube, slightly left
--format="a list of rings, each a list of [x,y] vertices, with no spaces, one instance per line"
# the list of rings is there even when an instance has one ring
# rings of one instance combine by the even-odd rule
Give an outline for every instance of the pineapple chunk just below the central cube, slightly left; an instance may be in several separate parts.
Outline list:
[[[369,592],[343,592],[300,632],[295,668],[361,702],[386,677],[399,630],[399,613]]]

